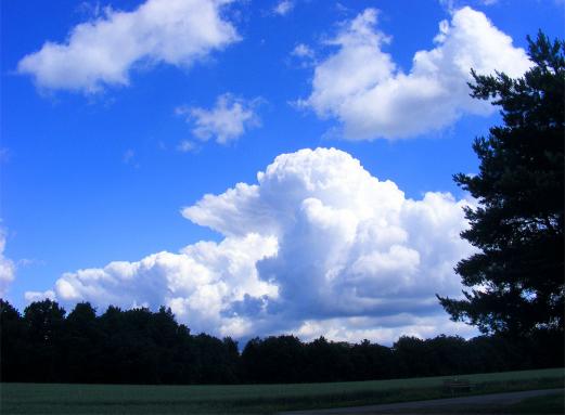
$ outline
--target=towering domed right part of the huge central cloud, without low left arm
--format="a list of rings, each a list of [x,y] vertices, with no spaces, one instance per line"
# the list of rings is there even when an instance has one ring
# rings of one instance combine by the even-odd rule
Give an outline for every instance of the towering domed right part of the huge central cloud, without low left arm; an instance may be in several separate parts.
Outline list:
[[[316,317],[437,309],[435,293],[458,293],[454,262],[462,206],[449,194],[407,199],[336,150],[279,156],[258,184],[237,184],[183,210],[224,235],[274,235],[278,255],[258,263],[280,288],[273,308]]]

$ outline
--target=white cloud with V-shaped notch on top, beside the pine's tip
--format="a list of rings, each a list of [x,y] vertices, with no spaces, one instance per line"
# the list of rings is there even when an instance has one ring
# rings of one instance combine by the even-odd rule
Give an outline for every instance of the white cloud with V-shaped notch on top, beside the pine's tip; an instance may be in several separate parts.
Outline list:
[[[488,102],[468,95],[471,69],[519,77],[531,66],[511,37],[466,7],[439,24],[436,47],[416,52],[406,74],[383,52],[390,39],[376,22],[376,10],[368,9],[344,26],[330,42],[337,51],[316,66],[312,92],[299,101],[320,117],[337,118],[346,139],[414,137],[463,114],[491,114]]]

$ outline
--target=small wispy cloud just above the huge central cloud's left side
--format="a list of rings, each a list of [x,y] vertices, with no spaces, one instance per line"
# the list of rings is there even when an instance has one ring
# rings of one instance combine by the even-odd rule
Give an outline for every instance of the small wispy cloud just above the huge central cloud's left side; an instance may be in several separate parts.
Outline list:
[[[187,121],[194,124],[192,133],[198,140],[214,139],[220,144],[226,144],[237,140],[246,129],[260,124],[259,117],[255,114],[255,107],[259,102],[259,99],[247,101],[224,93],[218,96],[211,109],[181,106],[176,113],[187,115]]]

